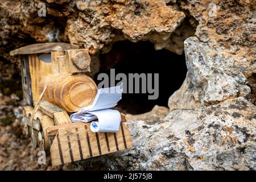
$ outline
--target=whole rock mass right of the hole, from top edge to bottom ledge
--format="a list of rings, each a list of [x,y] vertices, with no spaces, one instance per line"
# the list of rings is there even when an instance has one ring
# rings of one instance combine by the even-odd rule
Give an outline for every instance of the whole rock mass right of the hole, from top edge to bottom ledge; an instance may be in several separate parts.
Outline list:
[[[155,125],[128,122],[134,148],[81,162],[78,169],[255,170],[256,26],[250,3],[216,1],[214,10],[210,1],[181,2],[199,26],[196,37],[184,42],[188,73],[170,97],[170,113]]]

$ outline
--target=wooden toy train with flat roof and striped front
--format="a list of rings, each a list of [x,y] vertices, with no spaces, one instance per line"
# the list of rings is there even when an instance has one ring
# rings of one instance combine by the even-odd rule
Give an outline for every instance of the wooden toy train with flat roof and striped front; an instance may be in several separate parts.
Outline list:
[[[72,123],[69,114],[92,104],[97,86],[88,49],[68,43],[42,43],[15,49],[21,55],[23,131],[33,146],[51,155],[52,165],[75,162],[132,146],[122,122],[117,133],[93,133],[90,123]]]

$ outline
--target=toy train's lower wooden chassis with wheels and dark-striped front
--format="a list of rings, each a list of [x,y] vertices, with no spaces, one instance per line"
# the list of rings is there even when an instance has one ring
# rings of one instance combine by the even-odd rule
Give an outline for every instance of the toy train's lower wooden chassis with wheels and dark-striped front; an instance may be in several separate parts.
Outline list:
[[[48,107],[43,105],[40,107],[42,111],[36,112],[31,123],[29,117],[34,107],[23,108],[24,124],[31,131],[36,131],[35,134],[31,133],[35,135],[31,136],[34,145],[38,144],[41,150],[47,153],[50,151],[53,166],[109,154],[133,146],[130,132],[123,125],[126,121],[123,113],[117,133],[93,133],[90,130],[90,123],[72,123],[66,111],[45,109]],[[37,138],[38,133],[41,133],[43,141]]]

